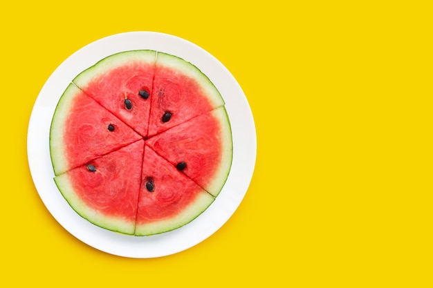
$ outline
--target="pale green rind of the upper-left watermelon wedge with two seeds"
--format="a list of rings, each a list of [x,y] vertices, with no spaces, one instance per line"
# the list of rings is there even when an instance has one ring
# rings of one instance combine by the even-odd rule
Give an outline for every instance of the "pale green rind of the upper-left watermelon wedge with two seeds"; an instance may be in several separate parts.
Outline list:
[[[93,66],[87,68],[78,74],[73,80],[73,84],[80,87],[86,92],[86,86],[94,79],[101,77],[107,71],[113,68],[120,67],[127,64],[128,62],[142,61],[143,63],[155,64],[156,51],[155,50],[129,50],[118,52],[113,55],[109,55],[100,61],[96,62]]]

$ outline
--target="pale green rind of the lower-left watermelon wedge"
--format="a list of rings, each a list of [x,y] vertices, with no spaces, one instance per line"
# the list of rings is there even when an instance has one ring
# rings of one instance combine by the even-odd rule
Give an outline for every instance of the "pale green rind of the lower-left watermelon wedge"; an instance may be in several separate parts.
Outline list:
[[[69,206],[82,218],[103,229],[133,235],[135,229],[134,222],[124,221],[121,218],[99,213],[78,198],[67,173],[54,177],[54,182]]]

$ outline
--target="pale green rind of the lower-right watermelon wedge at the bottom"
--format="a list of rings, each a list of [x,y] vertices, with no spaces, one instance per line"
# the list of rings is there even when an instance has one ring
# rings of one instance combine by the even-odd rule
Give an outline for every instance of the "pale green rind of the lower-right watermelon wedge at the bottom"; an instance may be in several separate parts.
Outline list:
[[[201,215],[210,204],[214,202],[215,198],[203,190],[203,193],[197,195],[197,198],[187,208],[183,209],[178,215],[167,218],[166,220],[159,220],[148,224],[136,224],[135,236],[151,236],[161,233],[173,231],[181,228],[186,224],[192,222]]]

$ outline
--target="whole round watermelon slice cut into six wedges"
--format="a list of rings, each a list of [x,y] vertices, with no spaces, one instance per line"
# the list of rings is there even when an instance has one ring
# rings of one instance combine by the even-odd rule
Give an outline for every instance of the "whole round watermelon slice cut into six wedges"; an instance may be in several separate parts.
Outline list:
[[[196,66],[163,52],[120,52],[66,88],[50,154],[55,183],[78,214],[151,236],[191,222],[219,195],[232,163],[230,120]]]

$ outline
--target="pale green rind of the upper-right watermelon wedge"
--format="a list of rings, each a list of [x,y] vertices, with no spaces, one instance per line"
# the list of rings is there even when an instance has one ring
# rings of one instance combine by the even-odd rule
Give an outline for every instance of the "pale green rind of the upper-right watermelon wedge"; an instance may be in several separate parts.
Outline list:
[[[181,57],[158,51],[156,54],[156,66],[173,68],[197,81],[197,83],[201,85],[201,88],[203,88],[205,92],[204,95],[208,96],[212,107],[216,108],[225,105],[223,97],[221,97],[219,90],[212,81],[210,81],[209,77],[191,62]],[[204,112],[208,111],[203,111],[203,113]]]

